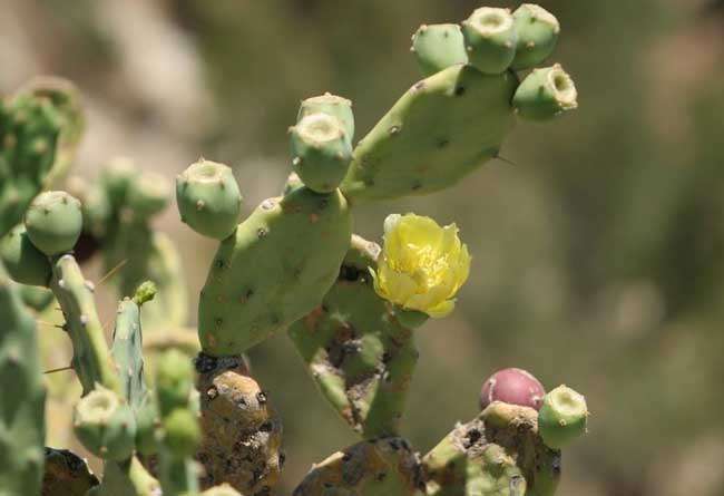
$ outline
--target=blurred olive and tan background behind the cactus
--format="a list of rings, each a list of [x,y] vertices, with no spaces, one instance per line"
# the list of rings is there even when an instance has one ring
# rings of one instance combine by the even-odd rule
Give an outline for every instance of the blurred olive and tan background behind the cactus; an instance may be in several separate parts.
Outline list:
[[[364,207],[456,222],[473,255],[452,317],[418,332],[405,435],[425,453],[522,367],[586,393],[589,435],[560,494],[724,495],[724,2],[541,0],[580,108],[520,124],[492,162],[436,195]],[[488,0],[491,6],[517,4]],[[169,181],[200,155],[234,167],[247,208],[281,191],[299,100],[354,100],[360,136],[418,78],[409,37],[480,0],[0,0],[0,91],[52,74],[88,113],[76,172],[116,155]],[[178,222],[195,313],[214,245]],[[110,299],[105,312],[111,314]],[[281,411],[287,493],[355,437],[285,335],[251,352]]]

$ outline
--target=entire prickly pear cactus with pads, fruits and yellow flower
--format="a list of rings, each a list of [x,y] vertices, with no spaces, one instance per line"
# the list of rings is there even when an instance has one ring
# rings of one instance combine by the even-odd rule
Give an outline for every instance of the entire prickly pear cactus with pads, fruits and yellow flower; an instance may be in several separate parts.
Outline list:
[[[575,108],[560,66],[534,69],[559,30],[532,4],[421,27],[413,52],[424,79],[356,144],[349,99],[303,100],[290,127],[284,192],[246,218],[228,166],[202,158],[179,174],[182,222],[218,242],[200,291],[198,342],[184,331],[176,250],[150,225],[168,204],[164,178],[116,159],[97,183],[69,179],[72,195],[42,192],[80,137],[75,90],[35,85],[4,100],[0,495],[276,494],[282,425],[242,353],[277,332],[287,332],[322,396],[360,436],[312,467],[295,496],[552,495],[560,448],[586,430],[588,410],[577,392],[546,393],[524,370],[487,380],[481,412],[427,455],[402,437],[415,333],[453,311],[470,255],[454,225],[393,214],[379,246],[353,234],[352,213],[364,202],[449,187],[499,156],[517,117]],[[80,265],[96,252],[120,295],[110,346]],[[43,456],[29,308],[53,299],[82,386],[74,431],[102,459],[100,477],[69,451]]]

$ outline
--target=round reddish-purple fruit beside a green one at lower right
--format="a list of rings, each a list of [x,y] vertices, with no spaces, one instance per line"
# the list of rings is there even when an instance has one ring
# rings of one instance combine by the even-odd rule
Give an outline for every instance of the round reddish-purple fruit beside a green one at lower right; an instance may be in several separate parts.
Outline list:
[[[546,389],[532,373],[522,369],[502,369],[490,376],[480,391],[480,409],[502,401],[540,410]]]

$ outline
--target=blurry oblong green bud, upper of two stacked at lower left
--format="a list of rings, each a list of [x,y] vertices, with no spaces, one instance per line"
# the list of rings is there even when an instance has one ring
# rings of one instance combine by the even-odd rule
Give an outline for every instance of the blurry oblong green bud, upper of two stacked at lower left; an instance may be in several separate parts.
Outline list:
[[[156,396],[162,418],[176,408],[185,408],[194,387],[194,370],[188,358],[169,350],[156,361]]]

